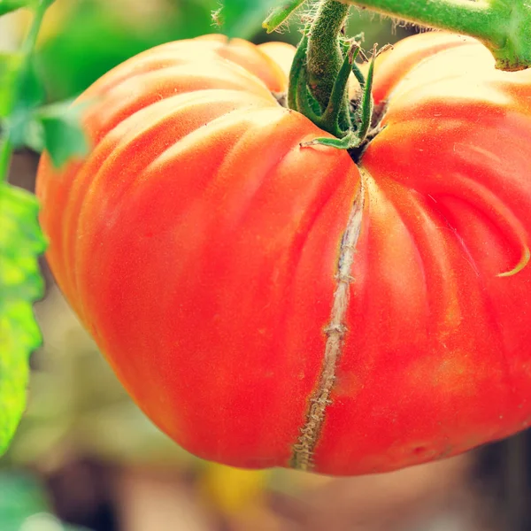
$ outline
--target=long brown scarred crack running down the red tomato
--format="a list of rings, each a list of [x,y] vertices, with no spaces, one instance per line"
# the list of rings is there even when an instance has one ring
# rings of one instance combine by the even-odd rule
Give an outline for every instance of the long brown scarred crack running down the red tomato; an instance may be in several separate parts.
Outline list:
[[[310,408],[306,414],[304,427],[301,428],[297,442],[293,445],[290,465],[299,470],[312,469],[313,455],[325,422],[327,406],[332,404],[330,395],[335,384],[335,371],[337,362],[342,354],[344,337],[348,332],[345,321],[349,307],[350,284],[354,281],[350,271],[361,230],[364,196],[362,178],[358,197],[354,200],[347,227],[342,235],[335,272],[336,285],[332,311],[330,320],[324,328],[327,340],[319,383],[310,397]]]

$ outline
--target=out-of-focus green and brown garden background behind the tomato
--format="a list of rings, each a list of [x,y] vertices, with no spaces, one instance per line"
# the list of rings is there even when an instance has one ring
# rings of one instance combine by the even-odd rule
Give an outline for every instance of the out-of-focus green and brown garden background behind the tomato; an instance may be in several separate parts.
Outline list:
[[[218,0],[58,0],[46,15],[35,65],[50,102],[161,42],[217,31]],[[354,10],[353,10],[354,11]],[[253,42],[266,9],[242,0]],[[19,47],[24,11],[0,19],[0,50]],[[414,33],[353,12],[366,48]],[[10,180],[35,186],[38,156],[16,154]],[[531,529],[527,434],[459,458],[397,473],[332,479],[205,463],[158,432],[83,331],[45,263],[36,305],[44,345],[32,359],[27,413],[0,460],[0,531],[523,531]]]

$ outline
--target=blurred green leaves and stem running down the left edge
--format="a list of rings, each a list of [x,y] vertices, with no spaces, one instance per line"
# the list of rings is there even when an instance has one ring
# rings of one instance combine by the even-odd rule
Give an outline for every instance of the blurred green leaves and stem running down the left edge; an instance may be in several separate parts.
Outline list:
[[[46,147],[58,165],[85,148],[77,120],[63,105],[42,108],[44,91],[32,67],[42,17],[52,0],[34,2],[26,40],[0,56],[0,455],[11,443],[26,407],[29,357],[42,342],[33,313],[44,293],[37,258],[46,241],[34,195],[7,182],[13,150]],[[2,2],[7,10],[19,3]]]

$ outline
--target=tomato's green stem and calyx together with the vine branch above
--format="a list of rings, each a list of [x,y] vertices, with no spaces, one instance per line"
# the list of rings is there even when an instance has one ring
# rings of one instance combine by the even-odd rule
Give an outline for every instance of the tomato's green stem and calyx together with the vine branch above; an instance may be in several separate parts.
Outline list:
[[[268,33],[308,0],[283,0],[264,22]],[[366,75],[356,64],[359,42],[344,38],[350,5],[370,9],[415,24],[436,27],[480,40],[492,52],[496,67],[521,70],[531,66],[531,4],[529,0],[320,0],[304,29],[289,76],[288,105],[302,112],[335,138],[312,142],[342,149],[365,149],[373,125],[373,61]],[[351,74],[358,97],[349,100]],[[352,152],[351,152],[352,153]]]

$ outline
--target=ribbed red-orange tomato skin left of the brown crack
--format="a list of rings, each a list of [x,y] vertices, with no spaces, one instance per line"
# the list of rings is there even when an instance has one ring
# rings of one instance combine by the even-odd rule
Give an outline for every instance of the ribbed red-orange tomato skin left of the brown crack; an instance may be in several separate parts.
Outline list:
[[[359,182],[346,152],[300,147],[322,132],[285,89],[247,42],[170,43],[82,96],[88,158],[39,169],[50,266],[120,381],[236,466],[289,464]]]

